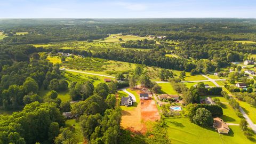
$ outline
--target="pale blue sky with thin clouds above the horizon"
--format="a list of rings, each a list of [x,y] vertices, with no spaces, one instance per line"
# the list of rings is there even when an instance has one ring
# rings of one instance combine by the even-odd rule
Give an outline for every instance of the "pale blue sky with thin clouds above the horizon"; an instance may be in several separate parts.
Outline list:
[[[0,0],[0,18],[256,18],[253,0]]]

